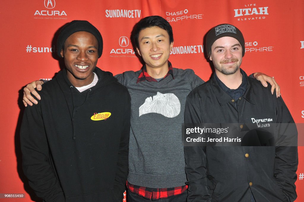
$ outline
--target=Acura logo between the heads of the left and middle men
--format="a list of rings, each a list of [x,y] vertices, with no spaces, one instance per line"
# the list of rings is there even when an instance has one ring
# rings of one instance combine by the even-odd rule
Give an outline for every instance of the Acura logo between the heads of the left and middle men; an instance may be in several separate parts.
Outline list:
[[[129,38],[126,36],[119,37],[120,48],[112,48],[110,52],[110,57],[136,57],[135,52],[130,45]]]

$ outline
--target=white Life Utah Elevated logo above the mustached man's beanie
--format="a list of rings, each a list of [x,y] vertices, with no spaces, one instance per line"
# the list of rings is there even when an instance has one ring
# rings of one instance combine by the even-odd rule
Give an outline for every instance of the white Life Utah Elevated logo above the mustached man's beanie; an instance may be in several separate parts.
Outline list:
[[[259,20],[265,19],[268,15],[268,7],[257,7],[256,4],[245,4],[245,8],[234,9],[234,17],[237,20]]]

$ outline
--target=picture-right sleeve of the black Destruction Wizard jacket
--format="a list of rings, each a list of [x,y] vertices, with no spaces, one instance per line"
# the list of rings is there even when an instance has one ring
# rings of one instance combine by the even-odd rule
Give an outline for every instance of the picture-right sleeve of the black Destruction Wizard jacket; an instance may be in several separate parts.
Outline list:
[[[277,114],[277,132],[288,141],[280,142],[282,145],[296,145],[298,133],[294,120],[282,98],[274,98]],[[296,171],[298,168],[297,146],[276,146],[275,148],[274,180],[285,193],[290,202],[297,198],[295,192]]]

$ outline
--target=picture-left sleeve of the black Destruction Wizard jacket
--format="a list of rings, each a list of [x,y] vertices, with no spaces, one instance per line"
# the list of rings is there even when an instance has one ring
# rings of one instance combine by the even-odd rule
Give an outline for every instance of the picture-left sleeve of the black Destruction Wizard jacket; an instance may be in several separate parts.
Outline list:
[[[200,124],[200,109],[191,98],[187,97],[185,105],[185,127]],[[206,179],[206,147],[184,146],[185,171],[188,184],[187,202],[210,202]]]

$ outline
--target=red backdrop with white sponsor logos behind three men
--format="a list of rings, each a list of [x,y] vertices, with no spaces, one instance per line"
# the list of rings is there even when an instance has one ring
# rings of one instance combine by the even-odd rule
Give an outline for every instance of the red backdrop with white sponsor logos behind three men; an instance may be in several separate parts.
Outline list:
[[[0,193],[23,193],[25,197],[0,201],[37,200],[21,169],[21,89],[30,81],[51,79],[60,70],[54,41],[65,23],[79,19],[96,26],[104,41],[97,66],[118,74],[142,67],[130,41],[134,24],[146,16],[160,15],[173,27],[174,48],[169,59],[173,67],[191,68],[205,81],[212,70],[204,57],[203,36],[217,24],[233,24],[246,42],[241,67],[247,74],[260,71],[274,76],[295,122],[303,123],[303,10],[302,0],[1,1]],[[304,147],[299,146],[297,202],[304,201],[303,155]]]

